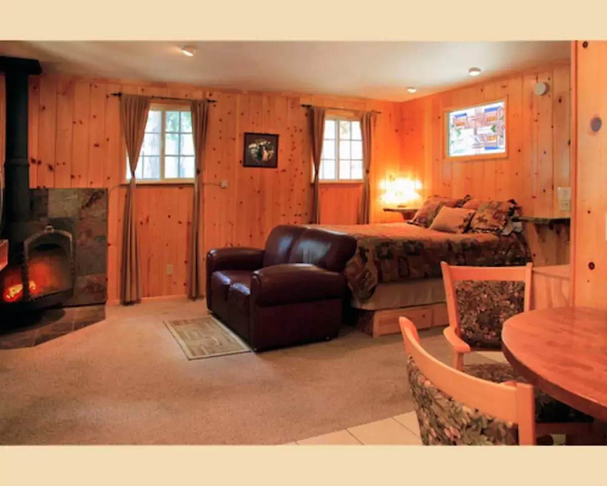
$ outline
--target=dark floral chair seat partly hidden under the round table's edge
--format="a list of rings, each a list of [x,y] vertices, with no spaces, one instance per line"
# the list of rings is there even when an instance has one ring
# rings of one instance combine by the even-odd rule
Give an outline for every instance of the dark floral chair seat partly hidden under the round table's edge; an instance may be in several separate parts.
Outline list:
[[[493,383],[521,382],[529,383],[526,378],[519,375],[509,363],[486,363],[482,365],[464,365],[464,373],[472,375],[481,380]],[[537,423],[569,423],[569,422],[592,422],[594,420],[575,408],[565,405],[553,399],[538,388],[535,394],[535,422]]]

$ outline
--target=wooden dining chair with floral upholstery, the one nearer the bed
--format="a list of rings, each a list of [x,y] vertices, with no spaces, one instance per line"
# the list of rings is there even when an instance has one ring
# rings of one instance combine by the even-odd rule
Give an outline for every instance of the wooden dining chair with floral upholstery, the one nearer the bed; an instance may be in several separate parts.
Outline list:
[[[464,365],[473,351],[501,351],[501,329],[508,318],[531,310],[533,265],[459,267],[441,262],[449,327],[443,335],[451,348],[452,366],[493,383],[523,382],[509,363]],[[592,434],[593,418],[540,389],[535,389],[535,421],[540,434]]]

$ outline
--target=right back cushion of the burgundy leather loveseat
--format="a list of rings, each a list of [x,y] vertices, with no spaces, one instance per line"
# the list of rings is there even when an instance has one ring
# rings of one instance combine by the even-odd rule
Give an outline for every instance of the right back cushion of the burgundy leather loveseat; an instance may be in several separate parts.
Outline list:
[[[310,228],[293,245],[289,263],[307,263],[331,272],[343,272],[355,251],[353,236]]]

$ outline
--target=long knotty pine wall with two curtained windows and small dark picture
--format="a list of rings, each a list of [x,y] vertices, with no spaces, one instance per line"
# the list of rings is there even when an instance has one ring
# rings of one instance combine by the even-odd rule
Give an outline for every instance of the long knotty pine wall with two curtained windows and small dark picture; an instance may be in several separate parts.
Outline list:
[[[119,100],[112,92],[217,100],[209,115],[203,174],[203,248],[260,247],[271,228],[307,223],[311,208],[311,160],[302,103],[344,109],[376,109],[371,171],[373,221],[382,221],[378,180],[399,162],[400,104],[353,98],[211,91],[200,86],[42,75],[30,80],[29,156],[31,187],[109,189],[108,297],[118,299],[126,151]],[[4,163],[4,78],[0,77],[0,161]],[[280,135],[277,169],[242,168],[243,133]],[[221,180],[228,188],[219,187]],[[323,185],[321,217],[354,223],[361,185]],[[189,185],[139,185],[135,199],[144,297],[186,292]],[[167,265],[173,265],[172,275]]]

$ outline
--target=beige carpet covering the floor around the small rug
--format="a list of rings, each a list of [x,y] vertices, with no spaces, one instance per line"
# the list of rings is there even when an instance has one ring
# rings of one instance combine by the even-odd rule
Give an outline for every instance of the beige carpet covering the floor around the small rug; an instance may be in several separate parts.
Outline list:
[[[345,329],[308,346],[186,360],[163,321],[204,313],[185,299],[108,307],[102,323],[0,351],[0,443],[276,444],[413,409],[398,335]],[[449,360],[439,330],[420,335]]]

